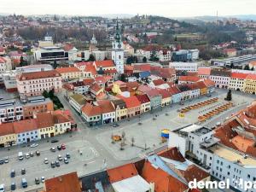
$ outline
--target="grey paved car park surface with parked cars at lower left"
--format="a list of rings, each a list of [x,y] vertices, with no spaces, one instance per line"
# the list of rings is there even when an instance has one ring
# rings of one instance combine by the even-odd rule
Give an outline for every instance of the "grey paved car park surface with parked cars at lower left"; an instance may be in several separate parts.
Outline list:
[[[23,154],[35,152],[36,150],[40,151],[40,155],[37,156],[34,154],[33,157],[24,160],[18,160],[18,152],[17,154],[13,154],[9,156],[9,163],[0,165],[1,172],[1,183],[5,183],[5,187],[7,190],[10,189],[10,184],[15,183],[17,188],[21,188],[21,178],[26,178],[28,186],[35,184],[35,178],[38,177],[55,177],[60,175],[61,173],[66,172],[79,172],[81,168],[83,168],[84,164],[86,164],[89,160],[94,160],[98,157],[98,153],[96,149],[90,146],[90,143],[87,141],[73,141],[70,143],[65,143],[66,149],[58,150],[57,145],[61,145],[61,143],[48,143],[49,148],[55,147],[55,152],[51,152],[49,148],[20,148]],[[82,152],[82,155],[79,154],[79,151]],[[60,166],[52,168],[51,162],[55,162],[60,154],[64,159],[66,155],[70,154],[70,159],[68,159],[68,164],[64,163],[64,160],[59,160]],[[3,153],[1,153],[3,154]],[[2,156],[2,155],[1,155]],[[49,160],[48,164],[44,163],[44,158]],[[21,175],[21,169],[26,169],[26,174]],[[15,177],[10,177],[10,172],[15,170]]]

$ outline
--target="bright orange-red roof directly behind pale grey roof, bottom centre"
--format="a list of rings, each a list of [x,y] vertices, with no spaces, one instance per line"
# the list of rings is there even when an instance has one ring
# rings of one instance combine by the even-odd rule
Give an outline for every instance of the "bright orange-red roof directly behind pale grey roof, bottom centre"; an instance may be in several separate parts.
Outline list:
[[[125,178],[137,176],[137,170],[131,163],[115,167],[113,169],[108,169],[107,172],[110,183],[116,183],[124,180]]]

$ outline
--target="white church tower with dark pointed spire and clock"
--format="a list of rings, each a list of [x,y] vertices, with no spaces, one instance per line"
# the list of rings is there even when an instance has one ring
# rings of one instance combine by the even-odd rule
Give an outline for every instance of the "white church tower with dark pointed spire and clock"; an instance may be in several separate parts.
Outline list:
[[[124,73],[124,44],[121,40],[121,35],[119,32],[119,21],[116,22],[116,32],[114,37],[114,42],[112,43],[112,60],[116,66],[116,70],[119,74]]]

